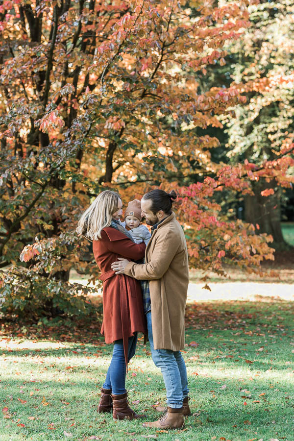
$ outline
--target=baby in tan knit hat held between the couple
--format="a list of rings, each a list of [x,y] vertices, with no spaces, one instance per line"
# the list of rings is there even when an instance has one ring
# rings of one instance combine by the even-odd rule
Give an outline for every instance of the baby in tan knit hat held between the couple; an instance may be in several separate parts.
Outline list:
[[[146,246],[149,242],[151,234],[148,228],[141,224],[141,204],[139,199],[134,199],[128,203],[124,213],[123,226],[129,231],[136,244],[145,242]]]

